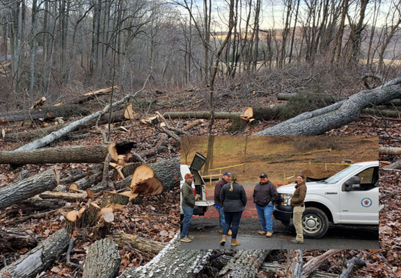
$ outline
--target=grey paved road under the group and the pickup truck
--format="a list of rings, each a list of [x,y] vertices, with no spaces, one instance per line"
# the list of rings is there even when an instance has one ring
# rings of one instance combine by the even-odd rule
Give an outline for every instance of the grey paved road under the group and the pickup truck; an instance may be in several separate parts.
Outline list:
[[[217,218],[194,218],[189,234],[195,236],[191,243],[181,243],[181,249],[379,249],[379,231],[370,227],[331,227],[320,239],[304,240],[303,245],[290,243],[294,237],[281,222],[274,220],[272,238],[260,236],[260,222],[257,218],[242,218],[237,239],[241,245],[231,247],[230,237],[224,246],[219,245],[221,234],[217,231]]]

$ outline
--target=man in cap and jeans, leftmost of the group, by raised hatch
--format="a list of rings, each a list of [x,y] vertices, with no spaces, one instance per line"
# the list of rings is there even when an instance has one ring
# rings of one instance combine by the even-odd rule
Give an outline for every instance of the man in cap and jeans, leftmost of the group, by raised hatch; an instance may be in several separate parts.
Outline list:
[[[190,243],[194,238],[193,236],[189,236],[189,225],[192,222],[192,215],[194,214],[194,206],[195,206],[195,195],[192,190],[192,182],[194,181],[194,176],[192,174],[185,174],[184,176],[185,182],[181,187],[182,193],[182,212],[184,213],[184,223],[182,224],[181,231],[181,241],[183,243]]]

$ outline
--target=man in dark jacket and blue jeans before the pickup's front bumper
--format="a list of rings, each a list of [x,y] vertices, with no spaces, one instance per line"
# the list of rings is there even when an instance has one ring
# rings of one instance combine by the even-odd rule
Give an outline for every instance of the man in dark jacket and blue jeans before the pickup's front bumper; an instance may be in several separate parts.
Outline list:
[[[273,234],[273,218],[274,203],[278,199],[276,186],[269,181],[267,174],[260,175],[260,183],[253,189],[253,202],[255,203],[258,218],[262,224],[262,231],[258,234],[269,238]]]

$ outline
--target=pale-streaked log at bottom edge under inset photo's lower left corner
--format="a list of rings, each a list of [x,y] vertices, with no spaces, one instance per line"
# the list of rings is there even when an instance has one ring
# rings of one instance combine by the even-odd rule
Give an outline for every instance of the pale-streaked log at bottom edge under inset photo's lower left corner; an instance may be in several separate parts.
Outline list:
[[[180,250],[175,237],[146,265],[127,268],[118,278],[194,278],[207,264],[212,250]]]

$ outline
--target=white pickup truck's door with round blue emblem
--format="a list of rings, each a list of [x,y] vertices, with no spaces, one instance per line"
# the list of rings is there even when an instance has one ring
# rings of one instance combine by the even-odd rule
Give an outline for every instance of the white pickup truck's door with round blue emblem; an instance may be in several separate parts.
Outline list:
[[[360,190],[340,189],[341,222],[352,224],[379,223],[379,167],[369,167],[356,174]]]

